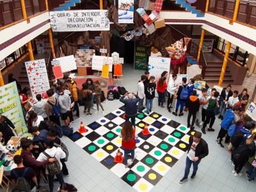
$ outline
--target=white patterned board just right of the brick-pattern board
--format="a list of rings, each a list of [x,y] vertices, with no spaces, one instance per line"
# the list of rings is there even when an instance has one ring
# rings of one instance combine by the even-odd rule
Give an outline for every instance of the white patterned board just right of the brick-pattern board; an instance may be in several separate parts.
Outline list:
[[[109,65],[109,72],[112,72],[113,58],[106,56],[92,56],[92,70],[102,70],[102,65]]]

